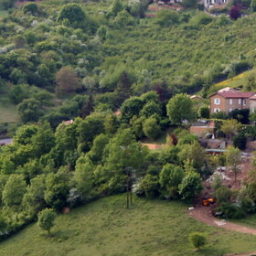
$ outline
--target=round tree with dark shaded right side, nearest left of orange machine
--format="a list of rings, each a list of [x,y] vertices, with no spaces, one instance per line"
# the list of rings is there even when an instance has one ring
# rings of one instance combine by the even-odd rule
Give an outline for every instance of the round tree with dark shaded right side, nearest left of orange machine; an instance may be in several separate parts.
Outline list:
[[[188,172],[178,186],[182,199],[191,200],[197,197],[203,189],[202,178],[196,172]]]

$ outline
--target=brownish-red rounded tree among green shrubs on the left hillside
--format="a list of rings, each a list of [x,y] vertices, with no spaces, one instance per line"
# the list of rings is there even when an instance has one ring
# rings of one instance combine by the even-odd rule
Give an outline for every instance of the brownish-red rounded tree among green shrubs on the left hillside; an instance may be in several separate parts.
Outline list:
[[[70,91],[76,91],[80,82],[70,67],[63,67],[56,73],[56,91],[59,95],[65,94]]]

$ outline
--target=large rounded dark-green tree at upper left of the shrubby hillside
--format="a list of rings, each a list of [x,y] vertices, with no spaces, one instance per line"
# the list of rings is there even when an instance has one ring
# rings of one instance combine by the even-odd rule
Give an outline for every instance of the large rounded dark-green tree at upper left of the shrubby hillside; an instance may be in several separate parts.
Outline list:
[[[66,19],[72,27],[80,27],[86,20],[86,15],[80,5],[68,4],[60,9],[57,21],[62,22]]]

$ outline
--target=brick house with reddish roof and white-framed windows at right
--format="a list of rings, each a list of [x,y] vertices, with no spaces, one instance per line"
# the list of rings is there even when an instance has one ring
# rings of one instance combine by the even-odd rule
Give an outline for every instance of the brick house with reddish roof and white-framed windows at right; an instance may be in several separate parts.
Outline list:
[[[214,112],[226,112],[228,114],[236,109],[250,109],[252,101],[256,106],[256,97],[254,99],[252,96],[255,96],[255,92],[217,91],[209,97],[210,114]]]

